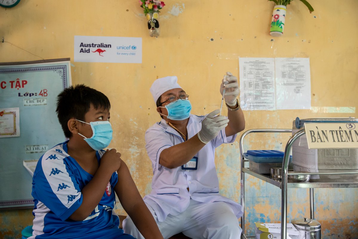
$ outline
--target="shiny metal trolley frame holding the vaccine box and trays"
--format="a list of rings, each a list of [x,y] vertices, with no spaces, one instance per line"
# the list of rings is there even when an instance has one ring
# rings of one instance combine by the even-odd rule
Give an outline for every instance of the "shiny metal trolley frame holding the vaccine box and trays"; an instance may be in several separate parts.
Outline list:
[[[345,122],[340,122],[345,123]],[[290,151],[292,144],[299,137],[305,134],[305,130],[301,129],[296,132],[292,137],[287,141],[285,151],[284,151],[284,160],[282,162],[282,179],[274,180],[269,175],[263,175],[251,171],[249,168],[245,168],[245,161],[248,161],[243,157],[243,140],[250,133],[290,133],[291,129],[251,129],[247,130],[240,138],[240,156],[241,156],[241,206],[244,211],[244,214],[241,217],[241,228],[242,228],[242,238],[255,238],[255,236],[246,236],[245,235],[245,173],[257,177],[265,182],[271,183],[279,188],[281,188],[281,238],[287,239],[287,187],[289,188],[309,188],[310,192],[310,216],[311,219],[314,219],[314,204],[313,204],[313,189],[314,188],[350,188],[358,187],[358,182],[305,182],[305,183],[287,183],[287,175],[338,175],[338,174],[358,174],[358,170],[344,170],[344,171],[322,171],[319,172],[288,172],[288,164],[290,158]]]

